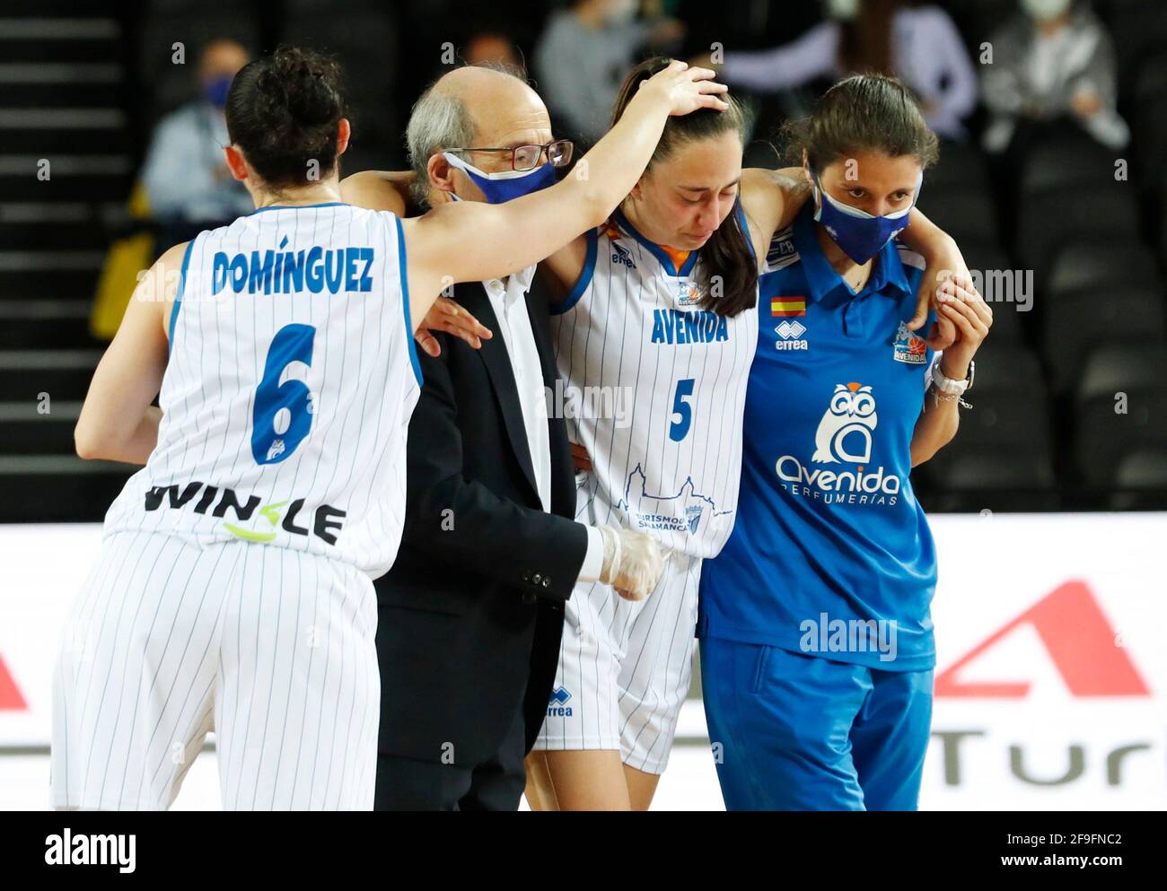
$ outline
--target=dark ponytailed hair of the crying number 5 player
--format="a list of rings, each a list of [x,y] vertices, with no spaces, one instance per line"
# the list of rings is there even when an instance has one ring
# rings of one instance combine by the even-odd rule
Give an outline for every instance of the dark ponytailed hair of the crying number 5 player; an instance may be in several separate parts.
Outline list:
[[[650,58],[629,72],[616,98],[616,107],[612,115],[613,126],[620,120],[624,108],[636,96],[636,91],[641,89],[641,82],[668,68],[670,62],[672,59]],[[735,131],[745,142],[745,110],[728,93],[721,98],[729,105],[726,111],[698,108],[689,114],[671,115],[665,121],[661,141],[657,142],[645,173],[651,170],[655,163],[671,157],[687,142],[717,136],[727,131]],[[741,198],[734,202],[733,211],[700,248],[700,306],[703,309],[712,309],[720,316],[735,316],[743,309],[750,309],[757,301],[757,260],[750,246],[749,232],[743,231],[738,222],[740,208]]]

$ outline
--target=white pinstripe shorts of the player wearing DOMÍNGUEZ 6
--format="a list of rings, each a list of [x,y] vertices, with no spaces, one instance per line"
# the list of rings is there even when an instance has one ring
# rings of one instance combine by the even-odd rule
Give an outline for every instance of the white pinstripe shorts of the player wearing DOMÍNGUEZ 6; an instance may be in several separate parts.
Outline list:
[[[376,629],[340,561],[109,535],[54,672],[53,805],[165,809],[214,731],[225,809],[372,809]]]

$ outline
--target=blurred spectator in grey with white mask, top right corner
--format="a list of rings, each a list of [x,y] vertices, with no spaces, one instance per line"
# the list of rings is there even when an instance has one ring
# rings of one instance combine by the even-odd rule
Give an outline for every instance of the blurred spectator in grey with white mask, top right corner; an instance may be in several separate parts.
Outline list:
[[[985,149],[1018,149],[1012,143],[1064,118],[1107,148],[1125,147],[1131,131],[1114,107],[1114,47],[1105,26],[1084,2],[1021,0],[1021,8],[993,36],[993,62],[984,66],[992,114]]]

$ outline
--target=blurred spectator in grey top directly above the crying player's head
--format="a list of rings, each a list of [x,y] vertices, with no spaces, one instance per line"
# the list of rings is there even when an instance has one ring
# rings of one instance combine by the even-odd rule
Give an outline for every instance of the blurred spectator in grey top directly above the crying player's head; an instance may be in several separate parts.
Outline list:
[[[659,2],[651,6],[650,17],[637,21],[637,0],[579,0],[547,20],[534,48],[539,93],[585,147],[608,131],[637,50],[665,50],[685,34],[683,23],[658,14]]]

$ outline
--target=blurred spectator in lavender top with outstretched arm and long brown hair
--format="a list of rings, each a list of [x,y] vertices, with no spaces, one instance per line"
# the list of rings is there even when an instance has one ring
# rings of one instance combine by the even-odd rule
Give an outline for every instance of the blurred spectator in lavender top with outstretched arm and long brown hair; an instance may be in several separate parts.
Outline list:
[[[729,86],[776,92],[818,77],[853,73],[900,78],[916,94],[928,125],[963,140],[962,119],[977,104],[977,75],[956,24],[938,6],[908,8],[902,0],[825,0],[827,21],[775,49],[726,48],[719,79]],[[708,65],[701,56],[694,64]]]

